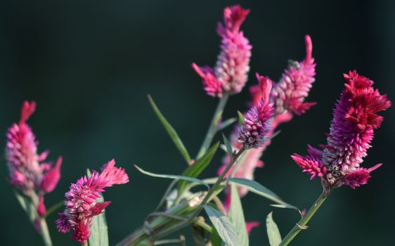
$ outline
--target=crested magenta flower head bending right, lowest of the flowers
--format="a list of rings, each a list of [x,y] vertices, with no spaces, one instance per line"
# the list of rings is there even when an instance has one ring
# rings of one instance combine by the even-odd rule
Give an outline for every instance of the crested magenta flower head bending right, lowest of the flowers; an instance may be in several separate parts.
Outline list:
[[[122,168],[115,167],[115,160],[103,165],[101,174],[92,171],[90,177],[83,176],[72,183],[70,191],[65,193],[65,211],[60,213],[60,219],[56,220],[56,228],[61,233],[67,233],[70,228],[74,233],[72,238],[78,242],[86,243],[91,235],[90,227],[93,216],[101,214],[110,202],[97,202],[104,188],[114,184],[129,182],[129,177]]]

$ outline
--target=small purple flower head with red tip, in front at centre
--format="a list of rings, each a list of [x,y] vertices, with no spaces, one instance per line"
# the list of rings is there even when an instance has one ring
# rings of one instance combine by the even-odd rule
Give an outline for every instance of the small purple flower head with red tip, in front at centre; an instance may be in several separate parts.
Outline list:
[[[244,123],[240,127],[238,141],[245,148],[259,148],[264,145],[271,131],[270,119],[273,116],[273,103],[269,103],[272,82],[266,77],[259,77],[262,98],[258,105],[253,105],[245,114]]]

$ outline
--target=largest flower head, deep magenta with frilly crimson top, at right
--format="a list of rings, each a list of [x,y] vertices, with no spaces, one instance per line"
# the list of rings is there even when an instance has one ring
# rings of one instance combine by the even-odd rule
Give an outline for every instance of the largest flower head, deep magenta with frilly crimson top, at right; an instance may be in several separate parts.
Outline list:
[[[309,155],[292,155],[311,179],[319,176],[326,190],[346,184],[356,188],[368,182],[370,169],[360,167],[367,155],[373,130],[380,127],[383,117],[377,112],[386,110],[391,102],[386,95],[373,89],[373,81],[356,71],[344,75],[347,83],[333,113],[327,145],[323,150],[309,146]]]

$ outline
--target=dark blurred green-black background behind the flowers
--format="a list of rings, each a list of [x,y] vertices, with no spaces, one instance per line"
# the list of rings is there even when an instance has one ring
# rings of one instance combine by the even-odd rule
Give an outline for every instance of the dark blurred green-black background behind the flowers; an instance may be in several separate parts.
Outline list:
[[[325,143],[342,73],[358,70],[394,101],[394,1],[1,1],[0,131],[19,119],[22,101],[37,101],[30,125],[39,151],[50,149],[52,160],[64,158],[60,183],[46,195],[47,207],[63,199],[87,167],[100,169],[115,158],[127,169],[130,183],[104,194],[112,201],[106,212],[110,245],[143,223],[169,181],[144,176],[133,164],[165,174],[186,167],[146,96],[153,96],[195,155],[216,99],[205,95],[190,64],[214,65],[220,41],[216,22],[231,4],[252,10],[242,25],[253,46],[252,73],[278,80],[288,59],[304,58],[304,34],[311,34],[317,75],[308,101],[318,105],[280,126],[255,177],[298,207],[316,200],[320,182],[309,181],[290,154],[306,153],[307,143]],[[255,83],[250,76],[247,86]],[[232,96],[225,116],[246,110],[249,99],[247,89]],[[293,245],[395,244],[394,108],[382,115],[384,123],[364,164],[383,166],[368,186],[335,190]],[[4,144],[5,136],[0,148]],[[202,176],[214,176],[223,155],[219,152]],[[11,192],[3,162],[0,245],[41,245]],[[299,219],[257,195],[242,202],[246,219],[261,221],[251,245],[268,245],[268,212],[274,212],[282,235]],[[55,219],[51,215],[48,224],[56,245],[77,245],[56,231]]]

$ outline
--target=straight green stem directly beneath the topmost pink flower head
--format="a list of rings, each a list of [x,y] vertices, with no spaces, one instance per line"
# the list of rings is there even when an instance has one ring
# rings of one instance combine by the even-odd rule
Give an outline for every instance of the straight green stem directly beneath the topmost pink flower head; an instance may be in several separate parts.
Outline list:
[[[225,105],[228,102],[228,98],[229,98],[229,94],[224,93],[224,95],[222,95],[222,97],[219,99],[219,103],[216,106],[216,110],[212,117],[212,121],[210,123],[209,129],[207,130],[205,140],[203,141],[202,147],[200,147],[200,150],[197,153],[196,160],[202,157],[203,155],[205,155],[205,153],[209,149],[209,146],[212,143],[212,138],[214,138],[216,134],[218,122],[221,119],[222,112],[224,112]]]

